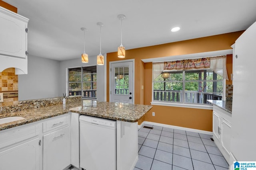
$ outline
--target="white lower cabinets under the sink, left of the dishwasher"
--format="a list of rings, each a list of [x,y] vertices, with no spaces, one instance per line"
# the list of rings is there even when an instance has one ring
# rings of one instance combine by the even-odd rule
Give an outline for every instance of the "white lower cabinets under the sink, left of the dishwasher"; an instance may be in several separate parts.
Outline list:
[[[2,130],[0,170],[63,170],[70,145],[70,113]]]

